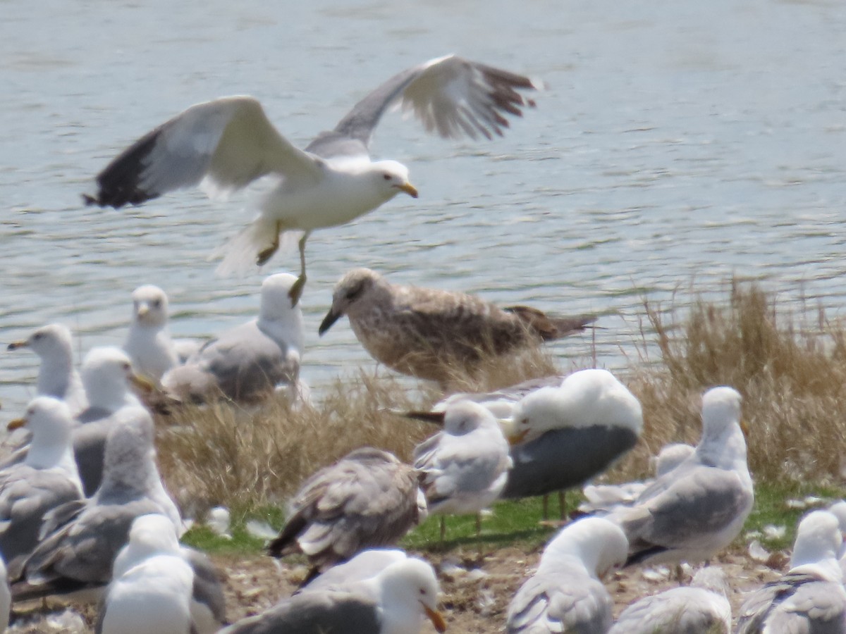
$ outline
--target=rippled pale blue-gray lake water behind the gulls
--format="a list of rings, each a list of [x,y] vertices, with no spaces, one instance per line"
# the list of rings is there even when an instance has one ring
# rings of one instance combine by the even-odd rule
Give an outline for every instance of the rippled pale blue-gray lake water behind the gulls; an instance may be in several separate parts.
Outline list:
[[[0,0],[0,341],[63,321],[80,352],[120,344],[129,294],[164,288],[175,336],[255,314],[266,274],[219,280],[206,256],[250,195],[169,194],[129,210],[80,193],[140,134],[197,101],[250,94],[305,145],[384,79],[457,52],[543,79],[490,143],[427,136],[398,114],[372,146],[404,196],[310,238],[303,374],[371,365],[346,321],[318,338],[333,283],[393,281],[603,314],[599,363],[636,359],[641,298],[722,292],[733,275],[843,314],[846,3],[777,0],[143,3]],[[562,368],[589,336],[557,344]],[[4,420],[36,357],[0,351]]]

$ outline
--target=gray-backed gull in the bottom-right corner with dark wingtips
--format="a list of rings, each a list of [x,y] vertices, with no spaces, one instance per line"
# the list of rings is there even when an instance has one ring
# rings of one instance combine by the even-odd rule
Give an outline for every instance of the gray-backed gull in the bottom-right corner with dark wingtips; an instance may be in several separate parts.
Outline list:
[[[832,513],[806,515],[796,532],[790,570],[744,601],[737,634],[846,631],[846,590],[837,560],[842,543]]]

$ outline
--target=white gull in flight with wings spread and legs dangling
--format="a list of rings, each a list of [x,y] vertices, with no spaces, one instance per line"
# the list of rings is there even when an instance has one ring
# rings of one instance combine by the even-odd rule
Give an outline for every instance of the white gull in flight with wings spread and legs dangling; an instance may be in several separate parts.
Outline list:
[[[399,192],[417,198],[408,168],[397,161],[371,161],[368,151],[382,114],[396,103],[426,130],[445,138],[503,134],[508,120],[534,106],[517,90],[533,90],[531,79],[448,55],[394,75],[349,111],[331,132],[305,150],[291,145],[253,97],[222,97],[182,112],[124,150],[96,177],[97,192],[86,204],[139,205],[174,189],[200,185],[212,195],[274,177],[277,187],[263,199],[259,216],[217,254],[218,271],[263,265],[279,247],[282,232],[299,239],[299,280],[305,284],[305,241],[310,232],[335,227],[376,209]]]

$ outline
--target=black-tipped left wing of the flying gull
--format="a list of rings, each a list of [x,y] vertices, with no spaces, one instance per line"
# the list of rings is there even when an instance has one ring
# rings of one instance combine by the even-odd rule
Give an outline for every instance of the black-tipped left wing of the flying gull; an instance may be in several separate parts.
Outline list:
[[[316,181],[321,168],[277,132],[261,103],[249,96],[198,103],[151,130],[96,177],[88,205],[139,205],[174,189],[201,184],[241,189],[277,173]]]

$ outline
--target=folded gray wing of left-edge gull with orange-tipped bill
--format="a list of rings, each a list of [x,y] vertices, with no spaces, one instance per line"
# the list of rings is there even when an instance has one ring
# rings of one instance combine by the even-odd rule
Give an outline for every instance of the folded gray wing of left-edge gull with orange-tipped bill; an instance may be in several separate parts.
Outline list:
[[[0,553],[7,562],[8,577],[16,579],[38,544],[45,513],[80,500],[80,490],[60,473],[28,465],[13,467],[4,476],[0,485]]]

